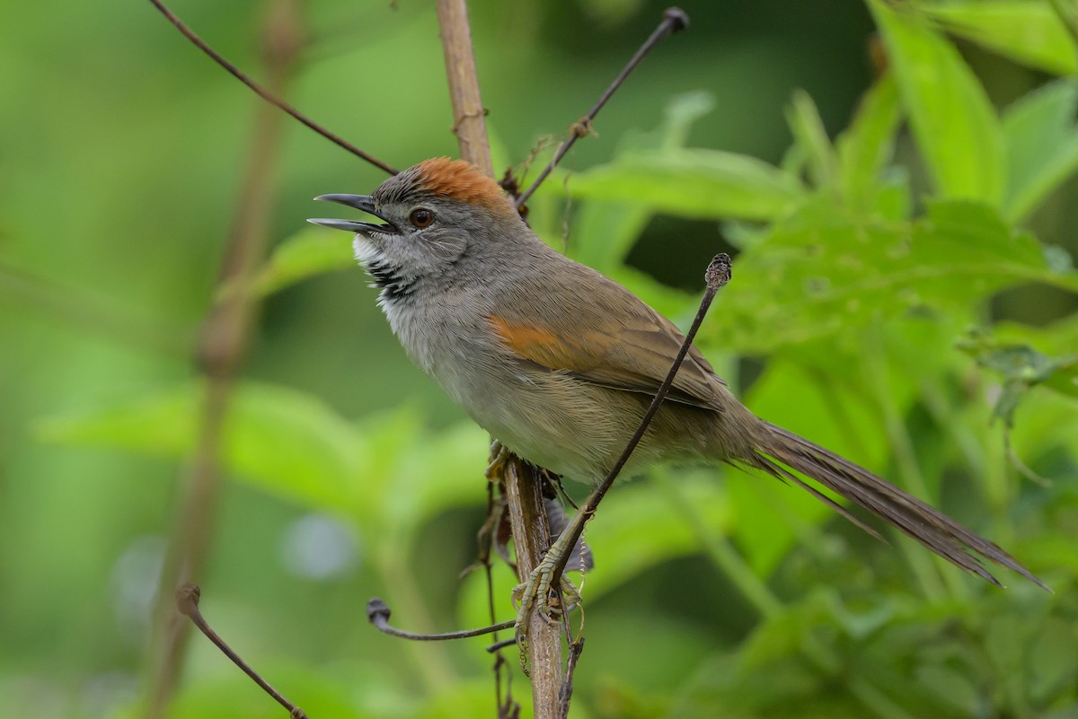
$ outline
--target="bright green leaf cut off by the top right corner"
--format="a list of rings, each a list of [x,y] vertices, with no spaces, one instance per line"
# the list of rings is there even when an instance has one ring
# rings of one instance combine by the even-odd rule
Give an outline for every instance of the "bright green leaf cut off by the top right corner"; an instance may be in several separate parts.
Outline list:
[[[1078,72],[1074,41],[1051,2],[960,0],[921,9],[956,36],[1056,75]]]

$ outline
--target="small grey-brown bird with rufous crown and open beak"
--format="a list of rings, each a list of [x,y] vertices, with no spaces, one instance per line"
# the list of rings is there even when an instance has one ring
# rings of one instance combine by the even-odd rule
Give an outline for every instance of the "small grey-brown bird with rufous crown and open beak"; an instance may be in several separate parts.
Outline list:
[[[454,401],[534,464],[592,483],[606,476],[681,347],[672,322],[547,245],[498,184],[468,163],[429,159],[372,195],[316,199],[382,221],[309,222],[356,234],[356,258],[382,288],[390,326]],[[695,348],[626,471],[668,460],[756,467],[853,519],[787,468],[793,469],[963,569],[998,584],[981,565],[984,558],[1048,589],[946,514],[757,418]]]

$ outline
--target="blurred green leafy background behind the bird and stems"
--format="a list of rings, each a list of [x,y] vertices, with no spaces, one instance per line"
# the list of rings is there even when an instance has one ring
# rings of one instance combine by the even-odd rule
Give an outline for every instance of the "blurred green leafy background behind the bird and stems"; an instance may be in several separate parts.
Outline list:
[[[498,168],[580,117],[664,6],[471,2]],[[572,716],[1078,716],[1073,8],[682,6],[689,31],[614,97],[534,226],[682,326],[707,259],[735,253],[700,343],[749,406],[1056,593],[880,546],[759,477],[659,470],[589,530]],[[267,8],[174,4],[254,76]],[[198,329],[267,149],[260,100],[149,3],[50,9],[0,10],[0,706],[137,716]],[[291,102],[398,167],[457,154],[431,3],[312,0],[302,23]],[[326,213],[310,197],[385,175],[290,121],[274,152],[268,243],[294,252],[265,274],[235,391],[203,608],[313,717],[495,716],[487,640],[409,645],[363,612],[381,595],[411,629],[488,618],[481,574],[458,577],[486,438],[406,361],[347,238],[304,228]],[[195,638],[174,716],[276,710]]]

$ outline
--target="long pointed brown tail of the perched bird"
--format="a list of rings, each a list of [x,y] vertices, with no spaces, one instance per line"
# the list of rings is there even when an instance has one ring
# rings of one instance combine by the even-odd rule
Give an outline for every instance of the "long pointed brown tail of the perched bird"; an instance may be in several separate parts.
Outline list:
[[[1051,591],[1036,575],[1006,551],[921,499],[876,477],[853,462],[842,459],[807,439],[768,422],[760,423],[758,453],[745,461],[764,471],[790,480],[832,505],[847,519],[876,534],[816,488],[806,484],[772,460],[811,477],[835,494],[894,524],[922,545],[963,569],[1003,586],[981,564],[981,558],[1018,572],[1039,587]],[[766,455],[766,456],[765,456]],[[879,536],[879,535],[876,535]]]

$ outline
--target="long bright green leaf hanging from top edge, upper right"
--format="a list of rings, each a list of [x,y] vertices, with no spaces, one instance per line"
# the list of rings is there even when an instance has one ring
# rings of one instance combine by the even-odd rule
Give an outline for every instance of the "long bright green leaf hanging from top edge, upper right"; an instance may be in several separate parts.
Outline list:
[[[1003,133],[984,88],[946,38],[880,0],[883,34],[917,146],[940,195],[996,205],[1003,197]]]

